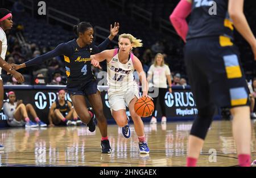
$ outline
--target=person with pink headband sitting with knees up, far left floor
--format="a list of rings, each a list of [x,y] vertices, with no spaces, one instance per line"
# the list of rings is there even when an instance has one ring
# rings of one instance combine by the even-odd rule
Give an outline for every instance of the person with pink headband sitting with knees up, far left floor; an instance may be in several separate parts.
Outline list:
[[[16,95],[13,91],[8,93],[8,102],[3,104],[3,112],[5,112],[7,118],[7,124],[11,127],[22,127],[26,126],[26,128],[36,128],[38,126],[46,127],[36,115],[35,109],[31,104],[23,104],[22,100],[16,101]],[[30,114],[36,121],[32,122],[28,117]]]

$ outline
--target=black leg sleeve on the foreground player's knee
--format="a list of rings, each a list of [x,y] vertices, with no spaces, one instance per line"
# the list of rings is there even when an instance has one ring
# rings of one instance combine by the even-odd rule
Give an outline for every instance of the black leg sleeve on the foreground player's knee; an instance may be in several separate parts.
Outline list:
[[[190,134],[205,139],[210,124],[212,123],[214,112],[215,107],[213,104],[200,108],[199,113],[193,122]]]

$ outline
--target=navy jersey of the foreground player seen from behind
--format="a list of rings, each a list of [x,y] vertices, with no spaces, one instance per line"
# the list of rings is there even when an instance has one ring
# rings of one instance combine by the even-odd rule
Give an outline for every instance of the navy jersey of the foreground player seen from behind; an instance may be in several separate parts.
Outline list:
[[[216,14],[214,6],[216,5]],[[233,22],[228,0],[193,0],[187,40],[198,37],[226,36],[233,39]]]

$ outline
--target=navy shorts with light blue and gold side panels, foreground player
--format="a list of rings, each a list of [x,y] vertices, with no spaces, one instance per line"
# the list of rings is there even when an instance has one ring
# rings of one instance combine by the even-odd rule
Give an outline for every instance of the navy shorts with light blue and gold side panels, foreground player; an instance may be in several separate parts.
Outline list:
[[[229,37],[188,40],[184,58],[197,108],[212,103],[221,108],[249,105],[240,54]]]

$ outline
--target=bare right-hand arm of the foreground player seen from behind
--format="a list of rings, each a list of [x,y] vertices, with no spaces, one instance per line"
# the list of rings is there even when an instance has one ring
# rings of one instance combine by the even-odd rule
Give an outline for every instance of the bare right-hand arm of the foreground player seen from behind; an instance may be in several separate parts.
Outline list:
[[[245,18],[245,14],[243,14],[243,3],[244,0],[229,0],[229,16],[233,20],[234,27],[236,27],[237,31],[251,45],[256,60],[256,39]]]

